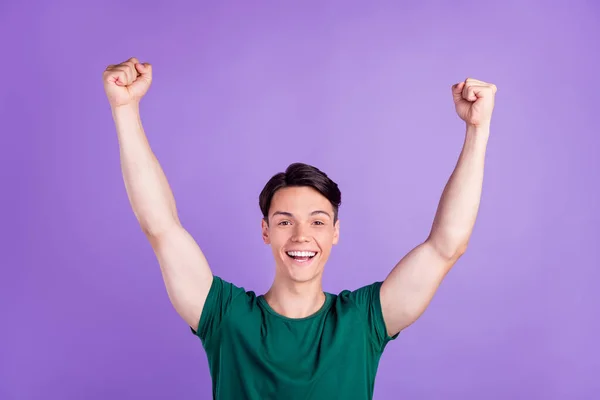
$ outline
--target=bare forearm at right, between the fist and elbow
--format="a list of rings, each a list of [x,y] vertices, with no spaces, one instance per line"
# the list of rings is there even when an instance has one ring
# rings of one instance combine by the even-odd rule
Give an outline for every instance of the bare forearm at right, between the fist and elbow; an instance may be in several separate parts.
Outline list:
[[[444,188],[428,241],[444,257],[466,249],[475,225],[481,192],[489,125],[467,126],[457,165]]]

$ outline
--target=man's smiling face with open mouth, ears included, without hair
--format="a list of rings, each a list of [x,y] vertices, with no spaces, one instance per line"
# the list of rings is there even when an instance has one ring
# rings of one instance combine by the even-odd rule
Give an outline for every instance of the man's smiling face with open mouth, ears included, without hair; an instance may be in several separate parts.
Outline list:
[[[288,187],[273,196],[262,234],[271,245],[277,274],[307,282],[321,278],[331,247],[338,242],[339,221],[333,223],[333,207],[318,191]]]

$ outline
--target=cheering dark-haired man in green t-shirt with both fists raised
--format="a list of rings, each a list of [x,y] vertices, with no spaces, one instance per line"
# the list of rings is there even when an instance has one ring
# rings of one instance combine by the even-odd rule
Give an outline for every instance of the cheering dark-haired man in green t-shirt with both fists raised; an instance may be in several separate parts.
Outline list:
[[[371,399],[386,345],[424,312],[467,248],[479,208],[496,87],[452,86],[466,123],[464,147],[433,227],[383,282],[334,295],[321,286],[339,236],[341,194],[326,174],[292,164],[260,194],[262,237],[276,274],[257,296],[214,276],[181,225],[167,179],[142,127],[140,99],[152,67],[109,66],[104,87],[115,121],[125,187],[161,267],[169,298],[206,351],[215,399]]]

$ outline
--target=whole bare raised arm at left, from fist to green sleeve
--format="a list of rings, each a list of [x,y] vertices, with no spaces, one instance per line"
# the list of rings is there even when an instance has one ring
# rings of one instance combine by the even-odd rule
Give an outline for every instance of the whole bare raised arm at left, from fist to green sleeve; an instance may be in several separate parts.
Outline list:
[[[191,235],[181,225],[175,199],[142,126],[139,103],[152,81],[152,67],[131,58],[103,74],[133,212],[158,259],[169,299],[197,329],[212,273]]]

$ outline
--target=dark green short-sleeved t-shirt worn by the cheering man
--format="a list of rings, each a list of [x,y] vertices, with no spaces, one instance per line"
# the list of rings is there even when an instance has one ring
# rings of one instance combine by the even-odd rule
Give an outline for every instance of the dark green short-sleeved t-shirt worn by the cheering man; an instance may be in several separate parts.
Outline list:
[[[387,334],[375,282],[306,318],[277,314],[264,297],[215,276],[197,330],[225,400],[372,399]]]

